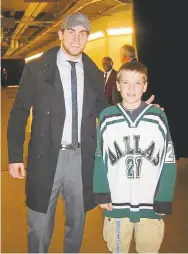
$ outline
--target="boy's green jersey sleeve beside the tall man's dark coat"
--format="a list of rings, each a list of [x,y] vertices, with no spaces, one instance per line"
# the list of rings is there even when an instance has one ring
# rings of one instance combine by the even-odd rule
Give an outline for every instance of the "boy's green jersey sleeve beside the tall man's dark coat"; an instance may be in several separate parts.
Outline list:
[[[103,155],[104,144],[101,135],[101,121],[102,114],[99,117],[97,127],[97,149],[95,154],[94,178],[93,178],[93,192],[96,204],[111,203],[110,188],[107,179],[107,163],[105,158],[107,154]]]

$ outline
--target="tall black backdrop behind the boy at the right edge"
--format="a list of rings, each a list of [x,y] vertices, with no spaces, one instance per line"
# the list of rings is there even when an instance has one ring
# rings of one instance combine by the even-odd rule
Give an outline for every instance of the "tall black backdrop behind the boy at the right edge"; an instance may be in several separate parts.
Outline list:
[[[188,2],[134,0],[138,58],[148,68],[146,98],[164,107],[176,157],[188,157]]]

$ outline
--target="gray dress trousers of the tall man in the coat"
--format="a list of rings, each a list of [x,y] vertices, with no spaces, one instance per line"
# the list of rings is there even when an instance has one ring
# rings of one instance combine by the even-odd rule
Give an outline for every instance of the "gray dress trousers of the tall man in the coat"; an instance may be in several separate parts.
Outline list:
[[[85,223],[80,148],[60,150],[47,213],[28,209],[29,253],[48,252],[59,195],[64,200],[66,214],[64,252],[78,253]]]

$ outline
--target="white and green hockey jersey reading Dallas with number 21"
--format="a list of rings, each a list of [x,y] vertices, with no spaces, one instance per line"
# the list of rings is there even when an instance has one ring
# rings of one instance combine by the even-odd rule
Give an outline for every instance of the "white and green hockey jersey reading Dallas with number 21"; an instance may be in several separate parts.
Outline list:
[[[137,222],[170,214],[176,163],[165,113],[148,105],[132,121],[121,104],[108,107],[97,139],[95,200],[113,204],[105,216]]]

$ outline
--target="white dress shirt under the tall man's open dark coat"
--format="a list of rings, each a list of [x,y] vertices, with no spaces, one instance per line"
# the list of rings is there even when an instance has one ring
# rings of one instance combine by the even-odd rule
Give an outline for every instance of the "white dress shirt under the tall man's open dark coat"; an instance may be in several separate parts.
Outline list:
[[[72,94],[71,94],[71,65],[70,59],[62,49],[57,53],[57,66],[59,69],[65,100],[65,122],[61,144],[72,144]],[[77,106],[78,106],[78,142],[81,135],[83,93],[84,93],[84,69],[82,56],[75,60],[77,76]]]

